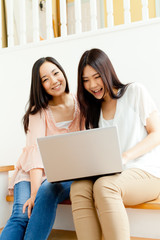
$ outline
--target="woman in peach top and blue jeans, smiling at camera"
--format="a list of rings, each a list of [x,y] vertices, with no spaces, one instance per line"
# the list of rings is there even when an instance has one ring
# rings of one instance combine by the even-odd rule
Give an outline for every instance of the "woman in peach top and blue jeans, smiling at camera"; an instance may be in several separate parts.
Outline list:
[[[79,130],[76,98],[69,93],[66,74],[54,58],[40,58],[33,65],[23,123],[26,147],[12,179],[13,211],[1,240],[47,239],[58,203],[69,198],[71,181],[49,183],[46,180],[36,142],[39,137]]]

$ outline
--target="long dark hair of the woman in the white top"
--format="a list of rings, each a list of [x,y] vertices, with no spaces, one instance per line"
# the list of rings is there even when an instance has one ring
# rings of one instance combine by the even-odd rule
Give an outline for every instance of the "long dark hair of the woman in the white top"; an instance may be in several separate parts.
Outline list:
[[[123,84],[117,77],[111,61],[105,52],[100,49],[93,48],[85,51],[80,59],[78,65],[78,88],[77,98],[80,105],[81,120],[85,118],[86,128],[97,128],[102,99],[96,99],[84,88],[83,84],[83,71],[89,65],[94,68],[102,78],[104,88],[108,91],[113,99],[118,99],[123,96],[128,84]],[[114,89],[120,89],[119,94],[116,95]]]

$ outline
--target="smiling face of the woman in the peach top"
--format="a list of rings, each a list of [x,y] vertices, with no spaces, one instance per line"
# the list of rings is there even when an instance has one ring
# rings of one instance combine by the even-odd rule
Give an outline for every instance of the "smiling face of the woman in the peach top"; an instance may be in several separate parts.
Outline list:
[[[61,96],[66,89],[66,80],[60,69],[51,62],[44,62],[39,70],[42,86],[53,96]]]

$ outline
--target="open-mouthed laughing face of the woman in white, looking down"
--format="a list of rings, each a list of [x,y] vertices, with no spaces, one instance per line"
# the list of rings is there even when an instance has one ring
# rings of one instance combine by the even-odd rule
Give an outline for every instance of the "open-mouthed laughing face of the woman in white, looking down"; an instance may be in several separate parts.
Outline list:
[[[102,99],[105,89],[100,74],[91,66],[86,65],[82,74],[83,86],[95,98]]]

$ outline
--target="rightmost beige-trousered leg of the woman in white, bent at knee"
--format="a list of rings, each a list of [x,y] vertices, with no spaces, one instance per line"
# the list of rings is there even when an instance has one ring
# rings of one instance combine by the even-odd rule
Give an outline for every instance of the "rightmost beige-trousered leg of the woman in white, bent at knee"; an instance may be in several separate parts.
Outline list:
[[[129,240],[124,204],[136,205],[157,198],[160,179],[140,169],[128,169],[121,174],[99,178],[93,189],[104,239]]]

